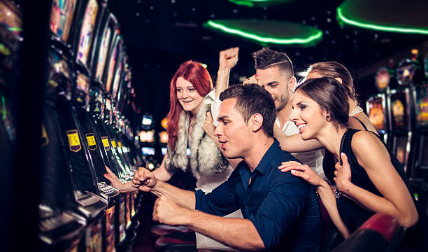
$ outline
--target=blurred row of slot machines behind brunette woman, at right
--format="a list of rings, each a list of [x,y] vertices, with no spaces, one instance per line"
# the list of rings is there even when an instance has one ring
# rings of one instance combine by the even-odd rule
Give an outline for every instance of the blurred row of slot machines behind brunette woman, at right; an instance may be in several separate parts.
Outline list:
[[[428,209],[428,61],[404,59],[376,73],[378,94],[366,102],[371,123],[404,166],[415,198]],[[424,66],[425,63],[425,66]]]

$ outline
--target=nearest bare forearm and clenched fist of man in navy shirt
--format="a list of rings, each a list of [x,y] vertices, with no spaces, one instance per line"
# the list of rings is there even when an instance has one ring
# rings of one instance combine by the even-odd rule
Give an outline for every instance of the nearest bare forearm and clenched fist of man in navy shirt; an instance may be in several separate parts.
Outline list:
[[[161,196],[156,200],[153,220],[166,225],[185,225],[202,235],[239,250],[259,251],[264,249],[262,238],[251,221],[224,218],[185,209],[178,206],[169,197]]]

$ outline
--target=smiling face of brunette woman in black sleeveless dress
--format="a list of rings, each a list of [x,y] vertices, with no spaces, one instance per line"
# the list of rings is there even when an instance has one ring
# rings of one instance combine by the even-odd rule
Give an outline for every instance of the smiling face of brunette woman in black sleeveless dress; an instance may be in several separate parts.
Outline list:
[[[315,139],[318,132],[326,125],[327,111],[323,111],[320,106],[311,98],[297,90],[293,96],[293,109],[290,113],[290,120],[296,124],[301,134],[301,139]]]

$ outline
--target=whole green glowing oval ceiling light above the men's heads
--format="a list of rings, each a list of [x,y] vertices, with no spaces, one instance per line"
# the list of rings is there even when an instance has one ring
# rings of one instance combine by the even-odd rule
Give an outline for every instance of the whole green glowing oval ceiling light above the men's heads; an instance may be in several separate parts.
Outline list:
[[[208,20],[204,27],[224,34],[247,38],[262,45],[315,45],[322,31],[292,22],[264,20]]]

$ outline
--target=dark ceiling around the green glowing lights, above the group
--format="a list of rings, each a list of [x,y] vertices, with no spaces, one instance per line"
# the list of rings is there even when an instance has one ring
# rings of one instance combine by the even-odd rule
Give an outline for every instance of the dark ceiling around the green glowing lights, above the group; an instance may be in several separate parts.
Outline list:
[[[297,0],[269,8],[248,8],[227,0],[110,0],[108,6],[120,22],[126,41],[139,106],[142,111],[154,113],[155,118],[162,118],[169,110],[169,80],[181,62],[203,62],[215,78],[218,52],[239,46],[240,59],[231,73],[231,82],[254,72],[250,55],[262,45],[209,31],[203,24],[210,19],[281,20],[322,30],[323,40],[312,47],[271,45],[287,52],[297,71],[327,60],[357,71],[427,39],[421,35],[340,27],[336,8],[342,2]]]

